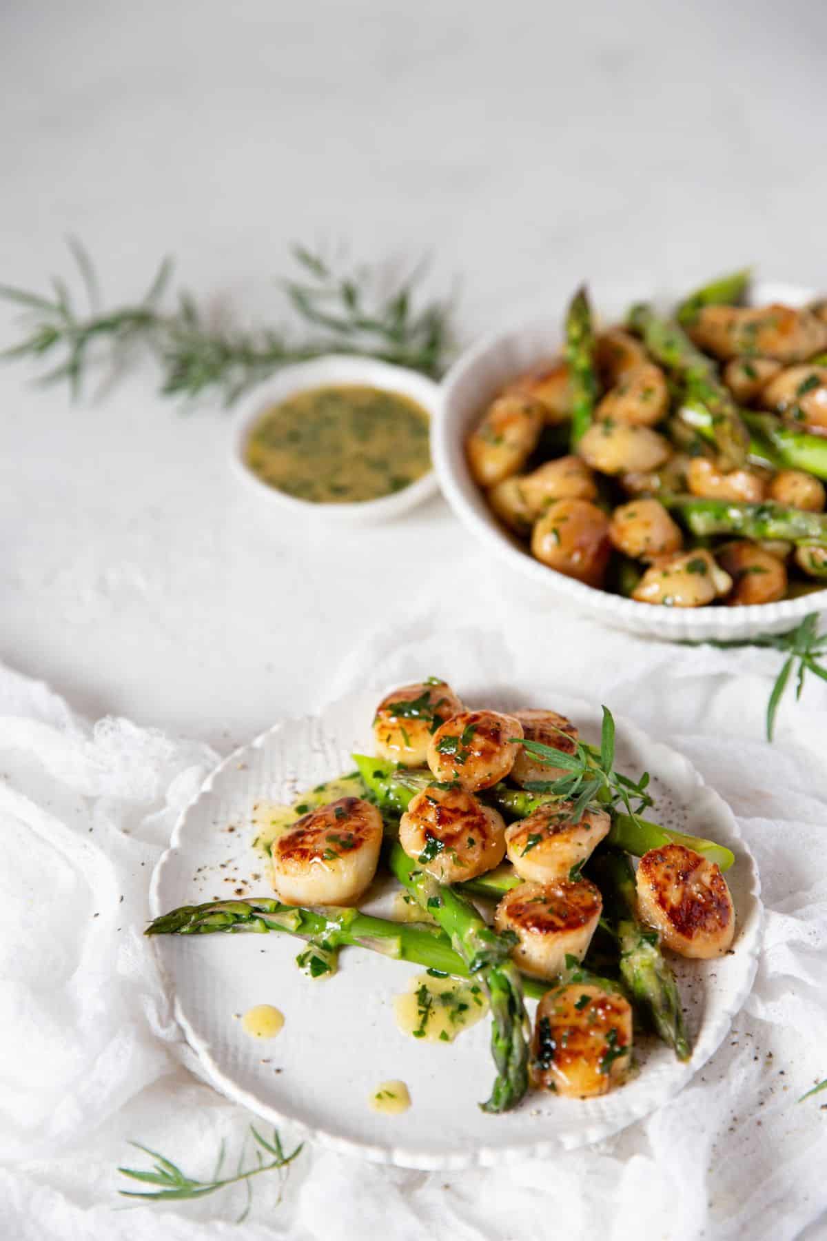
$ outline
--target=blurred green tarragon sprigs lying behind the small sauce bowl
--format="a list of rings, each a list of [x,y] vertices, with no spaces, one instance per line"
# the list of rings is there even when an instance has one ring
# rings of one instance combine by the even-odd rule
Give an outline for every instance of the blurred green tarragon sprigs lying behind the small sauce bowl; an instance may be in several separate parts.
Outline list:
[[[161,369],[162,396],[193,400],[214,392],[224,405],[283,366],[331,352],[378,357],[436,379],[445,369],[450,308],[443,302],[415,304],[417,272],[383,293],[376,272],[361,268],[341,276],[317,254],[295,247],[301,278],[283,287],[304,328],[300,335],[285,328],[239,329],[206,315],[186,292],[164,309],[172,274],[169,258],[141,299],[102,310],[89,256],[77,241],[69,248],[88,305],[81,307],[60,279],[52,282],[51,294],[0,285],[0,298],[22,311],[26,325],[24,339],[0,357],[50,364],[41,382],[68,381],[73,396],[97,364],[118,374],[141,351]]]

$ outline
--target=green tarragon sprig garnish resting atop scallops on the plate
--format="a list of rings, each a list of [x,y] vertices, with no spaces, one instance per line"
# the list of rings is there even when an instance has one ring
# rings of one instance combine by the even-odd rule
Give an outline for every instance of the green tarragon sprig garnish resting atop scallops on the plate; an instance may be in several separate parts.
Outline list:
[[[563,728],[558,731],[562,736],[569,736]],[[599,747],[578,738],[574,753],[567,753],[541,741],[516,737],[512,740],[518,741],[541,762],[564,768],[565,776],[553,781],[526,781],[523,788],[534,793],[552,793],[554,797],[573,802],[568,815],[572,823],[580,820],[591,802],[599,802],[606,809],[622,805],[635,823],[639,822],[639,812],[646,805],[652,805],[652,798],[646,792],[648,772],[643,772],[634,781],[615,771],[615,721],[608,706],[603,707]]]

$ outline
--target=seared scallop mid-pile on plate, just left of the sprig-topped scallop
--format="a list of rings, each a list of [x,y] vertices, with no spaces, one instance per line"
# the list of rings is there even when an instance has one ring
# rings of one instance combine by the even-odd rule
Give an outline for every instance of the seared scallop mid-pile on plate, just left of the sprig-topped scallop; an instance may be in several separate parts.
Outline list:
[[[474,793],[430,784],[399,822],[399,844],[441,884],[459,884],[493,870],[506,853],[506,825]]]

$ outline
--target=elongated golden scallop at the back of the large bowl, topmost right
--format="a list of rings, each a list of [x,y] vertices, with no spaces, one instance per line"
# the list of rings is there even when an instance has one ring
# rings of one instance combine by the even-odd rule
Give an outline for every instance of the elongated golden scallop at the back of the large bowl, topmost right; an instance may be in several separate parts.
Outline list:
[[[827,323],[812,310],[769,307],[704,307],[688,328],[696,345],[715,357],[770,357],[803,362],[827,349]]]

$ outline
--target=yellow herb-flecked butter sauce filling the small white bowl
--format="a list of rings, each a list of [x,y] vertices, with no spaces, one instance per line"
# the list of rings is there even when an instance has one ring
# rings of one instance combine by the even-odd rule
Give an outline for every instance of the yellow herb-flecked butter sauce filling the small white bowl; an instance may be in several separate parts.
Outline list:
[[[244,459],[286,495],[353,504],[400,491],[428,473],[428,412],[398,392],[320,387],[267,410]]]

